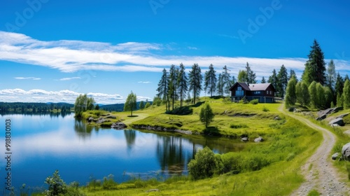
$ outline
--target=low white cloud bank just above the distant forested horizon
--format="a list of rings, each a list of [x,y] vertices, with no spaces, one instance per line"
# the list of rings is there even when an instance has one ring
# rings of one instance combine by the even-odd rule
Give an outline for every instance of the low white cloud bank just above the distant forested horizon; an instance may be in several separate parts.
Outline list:
[[[41,89],[22,90],[4,89],[0,90],[1,102],[66,102],[73,104],[80,93],[71,90],[46,91]],[[88,97],[93,97],[97,104],[118,104],[124,103],[125,99],[120,94],[104,94],[97,92],[87,93]],[[138,97],[138,99],[149,99],[149,97]]]

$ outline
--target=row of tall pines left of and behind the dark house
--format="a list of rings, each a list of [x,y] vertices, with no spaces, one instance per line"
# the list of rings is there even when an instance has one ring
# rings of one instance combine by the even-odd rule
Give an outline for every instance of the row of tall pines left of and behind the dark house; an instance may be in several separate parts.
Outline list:
[[[286,66],[282,64],[278,73],[274,69],[267,81],[265,77],[262,77],[260,82],[272,83],[276,88],[276,96],[284,97],[288,80],[292,76],[295,76],[295,71],[290,69],[288,75]],[[244,70],[239,70],[237,80],[235,76],[230,76],[230,70],[226,65],[223,66],[223,71],[217,76],[214,65],[210,64],[208,71],[205,71],[203,77],[201,68],[197,63],[193,64],[188,76],[186,74],[186,68],[182,63],[179,66],[172,64],[169,71],[167,69],[163,69],[162,71],[162,77],[158,83],[158,94],[153,99],[153,104],[160,105],[164,103],[167,111],[170,111],[171,108],[174,110],[176,101],[180,101],[180,107],[183,106],[184,101],[195,104],[202,90],[210,94],[211,97],[214,95],[222,97],[229,95],[230,87],[236,82],[257,83],[255,72],[251,69],[248,62]]]

